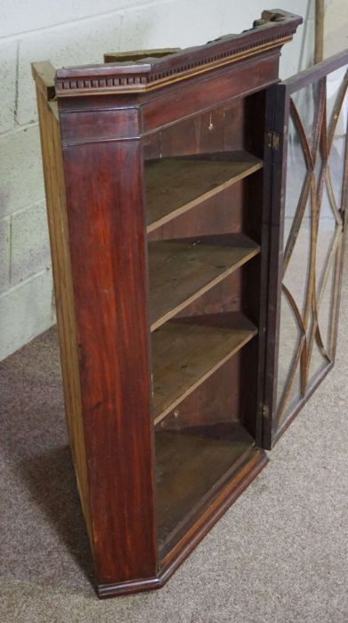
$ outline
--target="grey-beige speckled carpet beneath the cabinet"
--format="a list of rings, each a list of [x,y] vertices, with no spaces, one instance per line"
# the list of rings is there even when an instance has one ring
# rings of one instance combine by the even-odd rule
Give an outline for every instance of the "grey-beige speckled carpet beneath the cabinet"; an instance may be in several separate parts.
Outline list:
[[[347,623],[347,274],[336,368],[270,465],[154,593],[93,593],[55,330],[0,365],[1,623]]]

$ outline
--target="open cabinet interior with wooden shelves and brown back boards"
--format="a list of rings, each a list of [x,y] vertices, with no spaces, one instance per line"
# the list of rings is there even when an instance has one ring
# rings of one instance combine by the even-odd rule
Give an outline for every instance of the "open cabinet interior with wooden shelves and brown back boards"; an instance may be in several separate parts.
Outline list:
[[[162,557],[255,448],[263,119],[259,92],[144,140]]]

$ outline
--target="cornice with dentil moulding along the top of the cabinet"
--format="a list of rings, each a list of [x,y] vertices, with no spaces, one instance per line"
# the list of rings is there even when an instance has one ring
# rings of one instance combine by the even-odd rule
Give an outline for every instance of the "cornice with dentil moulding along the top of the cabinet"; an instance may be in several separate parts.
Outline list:
[[[160,58],[58,69],[56,95],[61,98],[150,92],[279,48],[292,39],[302,21],[300,16],[286,11],[263,11],[253,28],[239,35],[221,36],[205,45],[167,53]]]

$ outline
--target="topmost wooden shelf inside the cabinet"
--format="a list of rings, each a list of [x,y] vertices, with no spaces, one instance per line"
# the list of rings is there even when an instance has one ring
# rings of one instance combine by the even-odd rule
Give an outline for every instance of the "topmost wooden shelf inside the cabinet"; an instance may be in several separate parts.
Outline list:
[[[147,231],[156,230],[262,167],[263,161],[247,151],[146,162]]]

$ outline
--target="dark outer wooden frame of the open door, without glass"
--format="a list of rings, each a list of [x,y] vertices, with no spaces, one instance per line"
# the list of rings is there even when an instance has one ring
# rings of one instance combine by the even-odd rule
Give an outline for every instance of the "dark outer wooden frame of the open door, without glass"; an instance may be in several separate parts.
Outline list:
[[[321,381],[334,366],[335,360],[328,362],[315,382],[308,388],[303,398],[295,405],[295,409],[277,427],[277,382],[279,368],[279,328],[281,310],[281,290],[283,276],[283,243],[284,243],[284,219],[285,219],[285,198],[287,182],[287,142],[288,126],[290,115],[290,96],[292,93],[302,89],[304,86],[319,82],[327,77],[336,69],[348,64],[348,49],[342,53],[331,56],[326,61],[322,61],[310,69],[289,77],[287,80],[279,82],[268,88],[267,101],[271,106],[271,111],[266,115],[266,145],[271,145],[271,209],[269,228],[269,273],[267,284],[267,320],[266,320],[266,346],[264,356],[264,386],[263,386],[263,435],[262,446],[271,449],[279,437],[286,431],[297,413],[317,389]],[[347,216],[347,185],[348,185],[348,165],[347,165],[347,138],[345,142],[345,168],[343,182],[343,203],[344,206],[344,225]],[[345,227],[344,227],[345,229]],[[343,245],[344,247],[344,245]],[[336,305],[335,327],[337,327],[339,298],[341,291],[343,256],[341,253],[339,266],[338,301]],[[336,345],[336,329],[335,329]]]

